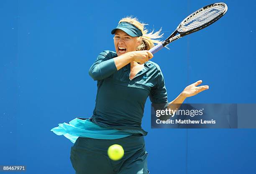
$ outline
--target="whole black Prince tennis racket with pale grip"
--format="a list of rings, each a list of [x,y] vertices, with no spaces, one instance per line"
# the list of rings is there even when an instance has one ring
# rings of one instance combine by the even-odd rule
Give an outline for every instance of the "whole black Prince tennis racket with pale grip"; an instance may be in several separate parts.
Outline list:
[[[174,40],[208,27],[225,15],[227,10],[228,6],[225,3],[214,3],[200,8],[185,18],[163,43],[159,43],[149,51],[154,54]]]

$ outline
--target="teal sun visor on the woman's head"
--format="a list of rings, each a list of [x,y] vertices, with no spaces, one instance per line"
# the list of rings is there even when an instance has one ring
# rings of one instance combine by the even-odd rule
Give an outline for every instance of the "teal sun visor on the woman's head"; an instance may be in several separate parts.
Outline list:
[[[140,37],[142,36],[142,32],[136,26],[128,22],[121,22],[118,26],[111,31],[111,34],[115,34],[115,30],[120,29],[123,30],[125,33],[132,37]]]

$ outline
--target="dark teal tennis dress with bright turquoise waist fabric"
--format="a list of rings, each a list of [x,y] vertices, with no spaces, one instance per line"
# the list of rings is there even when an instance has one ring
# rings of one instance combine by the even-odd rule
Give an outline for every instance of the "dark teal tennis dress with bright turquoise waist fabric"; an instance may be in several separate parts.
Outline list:
[[[74,143],[70,159],[76,174],[148,174],[147,152],[141,128],[146,99],[167,104],[167,91],[159,66],[148,61],[131,80],[130,63],[117,70],[106,50],[98,55],[89,70],[97,81],[95,108],[90,118],[75,118],[51,129]],[[107,156],[112,144],[123,146],[119,161]]]

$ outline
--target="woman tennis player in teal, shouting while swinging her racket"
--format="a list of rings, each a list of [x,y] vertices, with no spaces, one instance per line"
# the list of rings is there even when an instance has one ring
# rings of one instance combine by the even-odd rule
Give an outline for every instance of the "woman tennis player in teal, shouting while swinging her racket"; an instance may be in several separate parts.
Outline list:
[[[187,86],[168,103],[164,77],[159,66],[149,61],[148,51],[161,38],[160,30],[148,33],[136,18],[123,18],[112,30],[115,52],[100,53],[89,70],[97,81],[97,96],[93,115],[89,119],[76,118],[69,124],[59,124],[52,129],[64,135],[74,146],[70,160],[76,174],[148,174],[147,152],[141,128],[144,105],[152,103],[183,103],[208,86],[198,86],[197,81]],[[108,157],[108,147],[123,146],[122,159]]]

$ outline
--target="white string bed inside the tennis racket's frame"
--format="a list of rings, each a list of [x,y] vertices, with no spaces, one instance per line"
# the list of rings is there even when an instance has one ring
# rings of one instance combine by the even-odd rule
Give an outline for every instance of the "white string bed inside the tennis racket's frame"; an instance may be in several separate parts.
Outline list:
[[[194,28],[200,27],[214,18],[217,18],[225,10],[225,6],[222,4],[213,5],[203,10],[199,10],[191,15],[184,23],[179,27],[179,32],[186,32],[193,30]]]

